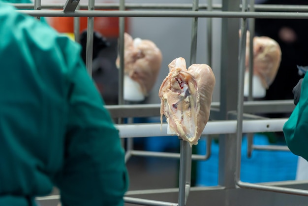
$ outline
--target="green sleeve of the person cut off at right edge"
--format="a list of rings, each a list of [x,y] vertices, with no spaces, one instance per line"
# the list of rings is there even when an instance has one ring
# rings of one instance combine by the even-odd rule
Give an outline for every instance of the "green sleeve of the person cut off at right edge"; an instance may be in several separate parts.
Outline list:
[[[287,146],[294,154],[308,160],[308,76],[301,89],[301,97],[288,121],[283,126]]]

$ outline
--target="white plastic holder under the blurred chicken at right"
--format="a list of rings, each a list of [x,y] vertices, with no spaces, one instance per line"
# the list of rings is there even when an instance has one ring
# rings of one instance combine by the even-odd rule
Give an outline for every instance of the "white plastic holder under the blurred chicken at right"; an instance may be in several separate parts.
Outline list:
[[[266,95],[266,89],[263,87],[261,79],[257,75],[252,76],[252,97],[263,98]],[[245,72],[244,96],[249,96],[249,71]]]

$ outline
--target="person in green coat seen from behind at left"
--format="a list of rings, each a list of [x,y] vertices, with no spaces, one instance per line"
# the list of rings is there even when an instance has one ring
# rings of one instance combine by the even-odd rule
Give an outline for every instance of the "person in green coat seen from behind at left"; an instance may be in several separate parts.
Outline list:
[[[81,47],[0,1],[0,206],[123,206],[124,150]]]

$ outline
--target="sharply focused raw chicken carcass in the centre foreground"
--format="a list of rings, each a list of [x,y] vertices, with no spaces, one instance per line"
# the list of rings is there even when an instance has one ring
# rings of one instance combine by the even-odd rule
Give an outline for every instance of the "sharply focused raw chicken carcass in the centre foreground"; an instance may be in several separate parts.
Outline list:
[[[198,144],[210,116],[215,76],[210,66],[193,64],[186,69],[180,57],[169,64],[169,74],[159,88],[160,121],[166,116],[170,131],[190,146]]]

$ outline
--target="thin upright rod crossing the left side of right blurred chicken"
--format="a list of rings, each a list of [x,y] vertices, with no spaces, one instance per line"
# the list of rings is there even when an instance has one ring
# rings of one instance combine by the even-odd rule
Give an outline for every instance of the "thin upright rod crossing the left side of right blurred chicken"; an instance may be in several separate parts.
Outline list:
[[[254,11],[254,0],[250,0],[249,11]],[[248,90],[248,101],[253,101],[252,97],[252,76],[253,76],[253,37],[254,37],[254,18],[248,19],[249,26],[249,90]],[[247,157],[251,157],[253,145],[253,134],[247,134]]]

